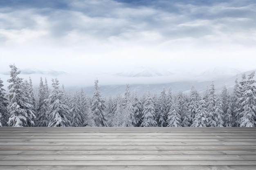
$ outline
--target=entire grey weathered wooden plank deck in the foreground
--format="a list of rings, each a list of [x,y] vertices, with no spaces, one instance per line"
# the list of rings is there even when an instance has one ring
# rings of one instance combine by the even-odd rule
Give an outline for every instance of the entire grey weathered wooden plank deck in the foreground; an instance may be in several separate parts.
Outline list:
[[[256,128],[0,128],[1,170],[256,170]]]

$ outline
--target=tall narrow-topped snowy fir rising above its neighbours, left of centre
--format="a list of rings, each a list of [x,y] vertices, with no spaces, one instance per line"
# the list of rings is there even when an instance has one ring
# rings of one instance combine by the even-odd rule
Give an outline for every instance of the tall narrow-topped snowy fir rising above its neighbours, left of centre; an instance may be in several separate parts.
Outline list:
[[[100,91],[99,91],[99,86],[98,86],[99,81],[95,80],[94,82],[94,88],[95,91],[92,95],[92,113],[94,117],[94,122],[96,126],[108,126],[107,124],[107,115],[106,115],[106,104],[105,100],[101,97]]]

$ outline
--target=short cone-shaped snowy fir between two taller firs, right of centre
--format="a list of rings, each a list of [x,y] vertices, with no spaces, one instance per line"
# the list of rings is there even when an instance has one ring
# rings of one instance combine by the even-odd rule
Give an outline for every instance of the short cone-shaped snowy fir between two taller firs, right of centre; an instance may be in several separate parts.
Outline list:
[[[200,104],[195,111],[195,117],[191,127],[206,127],[207,126],[207,108],[204,99],[200,100]]]

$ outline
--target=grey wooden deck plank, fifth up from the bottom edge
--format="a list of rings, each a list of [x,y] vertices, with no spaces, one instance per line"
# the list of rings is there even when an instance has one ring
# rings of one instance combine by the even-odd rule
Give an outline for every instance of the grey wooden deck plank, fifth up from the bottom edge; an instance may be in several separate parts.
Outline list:
[[[0,146],[0,150],[256,150],[256,146]]]

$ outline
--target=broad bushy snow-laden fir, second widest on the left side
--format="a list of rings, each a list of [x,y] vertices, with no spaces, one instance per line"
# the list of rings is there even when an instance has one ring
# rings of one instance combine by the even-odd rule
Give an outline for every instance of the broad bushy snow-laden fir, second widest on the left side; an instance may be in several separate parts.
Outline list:
[[[70,108],[63,103],[63,93],[59,90],[58,79],[52,79],[53,90],[45,102],[49,106],[47,115],[49,118],[50,127],[65,127],[70,126],[70,120],[67,118],[70,115]]]

